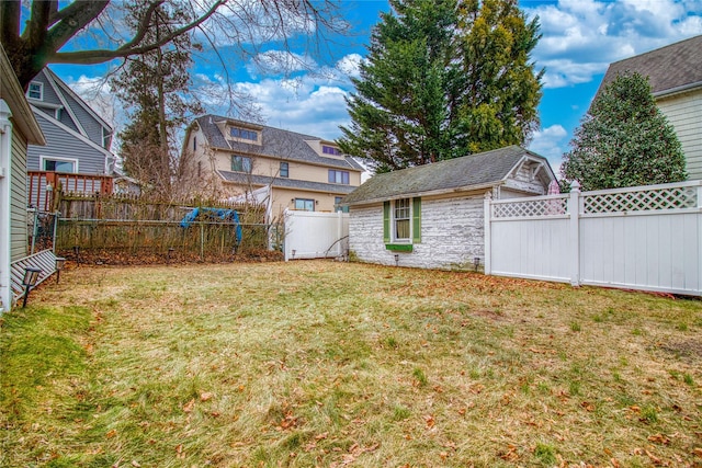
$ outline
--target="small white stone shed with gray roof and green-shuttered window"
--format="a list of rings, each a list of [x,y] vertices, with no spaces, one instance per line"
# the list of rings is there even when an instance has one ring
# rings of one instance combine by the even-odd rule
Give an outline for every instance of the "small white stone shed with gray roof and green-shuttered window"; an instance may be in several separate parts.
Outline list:
[[[349,255],[362,262],[473,269],[485,255],[484,201],[545,195],[546,158],[518,146],[376,174],[349,194]]]

